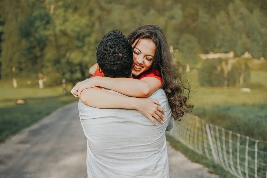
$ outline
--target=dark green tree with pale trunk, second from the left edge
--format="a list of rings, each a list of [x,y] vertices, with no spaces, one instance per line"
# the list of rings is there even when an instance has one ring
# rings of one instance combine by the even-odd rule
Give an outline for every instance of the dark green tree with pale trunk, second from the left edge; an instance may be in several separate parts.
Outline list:
[[[51,23],[51,17],[41,4],[36,3],[38,2],[29,3],[34,10],[28,14],[26,20],[21,22],[19,36],[24,40],[23,55],[26,56],[27,61],[31,61],[27,63],[30,66],[26,68],[35,67],[39,78],[39,88],[43,88],[44,52],[48,39],[46,30]]]

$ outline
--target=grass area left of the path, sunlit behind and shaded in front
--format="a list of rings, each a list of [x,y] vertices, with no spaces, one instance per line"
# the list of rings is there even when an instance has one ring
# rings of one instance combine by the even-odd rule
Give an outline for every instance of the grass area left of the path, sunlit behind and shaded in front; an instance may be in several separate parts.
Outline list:
[[[61,86],[47,87],[42,90],[33,87],[12,87],[10,80],[0,81],[0,142],[8,136],[37,122],[77,98],[70,93],[64,96]],[[71,86],[67,88],[71,90]],[[26,104],[16,105],[17,99],[24,99]]]

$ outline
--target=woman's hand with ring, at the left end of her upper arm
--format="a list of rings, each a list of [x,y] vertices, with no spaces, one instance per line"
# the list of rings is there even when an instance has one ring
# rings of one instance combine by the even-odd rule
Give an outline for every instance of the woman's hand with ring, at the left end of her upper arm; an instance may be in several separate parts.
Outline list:
[[[78,82],[72,89],[71,94],[75,97],[80,98],[80,94],[82,90],[86,88],[96,87],[96,79],[97,77],[92,77],[90,79],[83,80],[82,82]]]

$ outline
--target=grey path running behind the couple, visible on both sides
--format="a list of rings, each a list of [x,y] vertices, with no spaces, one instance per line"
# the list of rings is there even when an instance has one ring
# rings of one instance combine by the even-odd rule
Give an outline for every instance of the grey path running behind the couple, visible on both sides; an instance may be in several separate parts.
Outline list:
[[[216,177],[169,144],[168,154],[171,178]],[[0,178],[85,178],[85,160],[86,138],[75,102],[0,144]]]

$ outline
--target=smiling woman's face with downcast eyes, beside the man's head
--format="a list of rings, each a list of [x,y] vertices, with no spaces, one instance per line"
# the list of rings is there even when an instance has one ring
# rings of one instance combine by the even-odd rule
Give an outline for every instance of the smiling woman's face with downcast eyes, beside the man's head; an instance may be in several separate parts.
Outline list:
[[[132,47],[137,40],[133,43]],[[132,74],[137,76],[148,70],[153,63],[155,52],[156,45],[154,42],[147,39],[140,39],[133,49],[134,63],[132,66]]]

